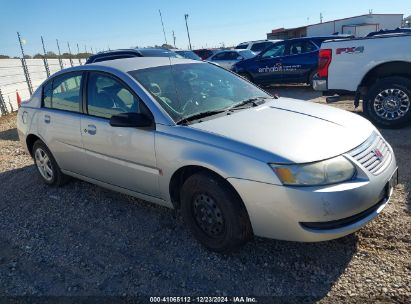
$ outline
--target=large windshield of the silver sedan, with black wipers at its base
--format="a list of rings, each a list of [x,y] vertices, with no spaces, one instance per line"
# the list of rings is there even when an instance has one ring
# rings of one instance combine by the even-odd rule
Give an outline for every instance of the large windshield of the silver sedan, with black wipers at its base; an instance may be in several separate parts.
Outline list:
[[[176,122],[195,114],[228,109],[250,98],[271,97],[241,77],[207,63],[159,66],[129,74]]]

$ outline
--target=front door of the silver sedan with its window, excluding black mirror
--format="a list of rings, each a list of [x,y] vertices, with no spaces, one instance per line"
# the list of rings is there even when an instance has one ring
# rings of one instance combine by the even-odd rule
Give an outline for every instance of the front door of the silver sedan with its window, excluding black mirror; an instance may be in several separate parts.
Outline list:
[[[159,195],[154,151],[155,130],[112,127],[112,115],[144,112],[144,103],[121,81],[106,73],[90,72],[87,115],[81,119],[88,176],[146,195]]]

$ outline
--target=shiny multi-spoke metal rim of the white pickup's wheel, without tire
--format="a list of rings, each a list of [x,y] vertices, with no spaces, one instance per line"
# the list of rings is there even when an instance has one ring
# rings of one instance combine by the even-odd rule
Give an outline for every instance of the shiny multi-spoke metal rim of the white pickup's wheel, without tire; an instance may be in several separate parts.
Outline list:
[[[374,110],[384,120],[396,120],[410,110],[410,98],[400,89],[386,89],[375,97]]]

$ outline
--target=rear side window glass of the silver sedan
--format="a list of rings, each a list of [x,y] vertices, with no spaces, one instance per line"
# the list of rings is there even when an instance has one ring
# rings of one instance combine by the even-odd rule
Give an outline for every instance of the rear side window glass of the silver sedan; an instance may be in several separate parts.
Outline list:
[[[69,73],[58,76],[43,88],[43,106],[45,108],[80,112],[81,73]]]

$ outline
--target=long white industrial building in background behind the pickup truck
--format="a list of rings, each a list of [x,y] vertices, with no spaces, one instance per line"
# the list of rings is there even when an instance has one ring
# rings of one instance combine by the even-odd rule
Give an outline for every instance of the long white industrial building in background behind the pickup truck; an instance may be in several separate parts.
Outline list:
[[[271,33],[267,34],[267,39],[326,36],[336,33],[364,37],[370,32],[375,32],[381,29],[393,30],[401,27],[402,24],[403,14],[366,14],[290,29],[274,29]],[[410,23],[408,24],[410,25]]]

